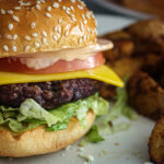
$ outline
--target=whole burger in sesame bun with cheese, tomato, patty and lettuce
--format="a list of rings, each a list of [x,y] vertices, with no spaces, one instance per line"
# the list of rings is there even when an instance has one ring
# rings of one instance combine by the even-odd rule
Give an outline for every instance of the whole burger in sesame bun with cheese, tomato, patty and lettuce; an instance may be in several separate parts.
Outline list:
[[[58,151],[83,137],[122,86],[101,51],[96,21],[80,0],[0,0],[0,155]]]

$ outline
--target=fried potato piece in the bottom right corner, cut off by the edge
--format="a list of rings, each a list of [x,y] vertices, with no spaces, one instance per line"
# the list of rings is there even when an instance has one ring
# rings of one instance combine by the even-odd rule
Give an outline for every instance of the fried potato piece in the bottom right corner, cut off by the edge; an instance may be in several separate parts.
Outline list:
[[[152,131],[149,142],[151,160],[156,164],[164,163],[164,117],[160,119]]]

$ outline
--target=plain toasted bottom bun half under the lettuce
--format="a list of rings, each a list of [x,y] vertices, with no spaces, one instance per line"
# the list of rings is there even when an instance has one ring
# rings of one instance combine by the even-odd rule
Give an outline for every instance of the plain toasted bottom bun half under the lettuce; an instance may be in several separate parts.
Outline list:
[[[80,126],[77,118],[71,118],[66,130],[46,131],[44,126],[14,136],[7,130],[0,130],[0,156],[23,157],[51,153],[72,144],[83,137],[95,120],[95,114],[86,115],[87,128]]]

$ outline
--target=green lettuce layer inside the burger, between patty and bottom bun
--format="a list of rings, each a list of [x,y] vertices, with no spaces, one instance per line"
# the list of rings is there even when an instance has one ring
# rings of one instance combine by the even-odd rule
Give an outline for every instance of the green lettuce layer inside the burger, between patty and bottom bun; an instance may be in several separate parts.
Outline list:
[[[28,98],[21,104],[20,108],[0,106],[0,126],[17,133],[40,125],[45,125],[48,131],[56,131],[67,129],[70,118],[77,117],[85,128],[85,116],[89,109],[93,109],[97,116],[101,116],[107,114],[108,108],[108,102],[98,94],[50,110],[44,109],[34,99]]]

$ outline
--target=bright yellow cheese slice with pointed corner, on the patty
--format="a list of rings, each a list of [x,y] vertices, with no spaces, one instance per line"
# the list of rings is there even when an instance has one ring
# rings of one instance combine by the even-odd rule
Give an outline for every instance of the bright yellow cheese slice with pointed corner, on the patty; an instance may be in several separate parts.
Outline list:
[[[0,85],[12,83],[57,81],[57,80],[79,79],[79,78],[90,78],[116,86],[124,86],[122,81],[117,77],[117,74],[106,66],[101,66],[84,71],[54,73],[54,74],[23,74],[23,73],[0,72]]]

